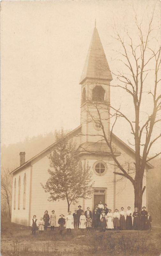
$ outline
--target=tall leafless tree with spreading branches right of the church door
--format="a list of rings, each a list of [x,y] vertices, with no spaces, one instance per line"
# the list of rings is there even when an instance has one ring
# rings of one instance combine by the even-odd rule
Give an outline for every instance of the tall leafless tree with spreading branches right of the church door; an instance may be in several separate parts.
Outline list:
[[[120,171],[114,172],[121,177],[127,178],[131,181],[134,186],[135,193],[135,206],[139,209],[142,207],[142,197],[145,191],[143,186],[143,176],[146,168],[146,164],[150,160],[159,156],[161,152],[157,152],[155,155],[150,154],[150,149],[161,137],[160,129],[156,135],[156,125],[161,121],[160,110],[161,110],[161,90],[160,90],[160,63],[161,63],[161,45],[157,37],[154,37],[153,28],[154,12],[149,21],[148,30],[145,31],[143,21],[140,23],[135,16],[135,26],[138,31],[138,39],[132,38],[129,35],[128,30],[126,31],[126,40],[117,32],[115,27],[116,39],[118,40],[122,52],[117,51],[121,56],[119,61],[122,63],[122,68],[125,67],[126,71],[120,71],[118,73],[112,72],[113,76],[116,77],[115,81],[117,84],[112,84],[115,88],[120,88],[127,94],[127,98],[131,99],[131,104],[134,106],[134,116],[128,116],[123,113],[121,108],[115,108],[111,106],[106,100],[102,102],[95,102],[86,100],[88,103],[88,122],[99,123],[101,126],[101,134],[84,134],[88,136],[100,136],[100,140],[106,142],[110,149],[111,156],[114,160],[115,165]],[[160,34],[159,34],[160,35]],[[155,47],[152,48],[152,40],[156,40]],[[148,79],[150,75],[150,90],[148,88]],[[97,83],[93,83],[97,85]],[[102,83],[101,83],[102,84]],[[100,85],[98,83],[98,85]],[[143,96],[151,97],[151,111],[147,113],[147,118],[144,121],[141,118],[141,112],[143,111]],[[147,98],[148,99],[148,98]],[[95,112],[91,109],[95,109]],[[107,118],[103,116],[104,112],[110,109],[110,116]],[[118,160],[115,155],[117,148],[113,143],[113,129],[116,122],[123,118],[130,127],[133,136],[133,143],[128,141],[130,145],[135,147],[135,163],[132,168],[125,168],[122,163]],[[110,122],[112,129],[110,136],[106,133],[106,122]],[[155,132],[154,132],[155,130]],[[141,156],[141,152],[142,156]],[[135,170],[134,170],[135,169]]]

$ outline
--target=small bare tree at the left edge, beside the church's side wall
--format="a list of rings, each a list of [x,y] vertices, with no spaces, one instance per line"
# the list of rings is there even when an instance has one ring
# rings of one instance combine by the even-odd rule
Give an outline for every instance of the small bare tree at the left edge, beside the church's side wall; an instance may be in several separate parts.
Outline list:
[[[9,169],[3,169],[1,175],[1,203],[8,206],[9,216],[11,218],[11,199],[12,199],[12,177]],[[5,207],[6,208],[6,207]]]

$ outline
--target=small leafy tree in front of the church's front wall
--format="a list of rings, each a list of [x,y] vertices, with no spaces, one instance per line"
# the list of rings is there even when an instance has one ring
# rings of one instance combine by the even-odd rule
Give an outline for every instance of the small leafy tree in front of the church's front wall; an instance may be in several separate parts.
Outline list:
[[[71,204],[78,203],[79,198],[89,199],[92,192],[92,173],[87,164],[79,166],[76,144],[67,140],[63,130],[56,133],[56,146],[50,153],[50,178],[41,186],[50,194],[48,201],[67,200],[68,211]]]

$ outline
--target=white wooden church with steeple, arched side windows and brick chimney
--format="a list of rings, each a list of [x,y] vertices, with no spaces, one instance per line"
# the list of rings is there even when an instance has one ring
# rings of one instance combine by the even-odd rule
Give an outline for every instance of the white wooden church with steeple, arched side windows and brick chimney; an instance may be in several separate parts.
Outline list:
[[[112,211],[115,208],[120,210],[121,206],[127,210],[131,206],[134,210],[134,188],[127,179],[117,181],[121,176],[116,176],[113,172],[119,171],[114,166],[114,161],[110,156],[110,150],[104,141],[100,142],[99,135],[102,134],[100,124],[95,120],[89,122],[89,115],[94,113],[89,101],[101,103],[110,102],[110,82],[112,75],[106,60],[106,55],[101,44],[97,28],[94,28],[91,44],[88,50],[84,69],[82,72],[81,84],[81,117],[80,125],[66,135],[67,138],[76,141],[80,155],[79,164],[89,163],[93,172],[93,192],[91,199],[80,199],[79,204],[86,210],[89,206],[93,210],[94,205],[101,200],[107,204]],[[104,119],[108,119],[108,109],[98,104]],[[106,136],[110,134],[109,122],[104,122]],[[79,136],[76,136],[79,135]],[[91,136],[94,135],[94,136]],[[98,135],[98,136],[96,136]],[[25,162],[25,152],[20,152],[20,166],[12,171],[13,191],[12,191],[12,217],[11,221],[30,226],[30,220],[35,214],[37,218],[43,217],[44,211],[50,214],[55,210],[57,220],[60,214],[67,214],[67,202],[48,201],[48,194],[45,193],[40,183],[45,184],[48,179],[49,159],[48,154],[55,147],[53,143],[45,148],[38,155],[33,156]],[[115,154],[122,163],[135,162],[135,152],[117,136],[113,136],[113,145],[116,148]],[[83,149],[84,150],[83,150]],[[78,164],[78,166],[79,166]],[[153,166],[149,163],[146,170]],[[144,184],[146,185],[146,172]],[[146,204],[146,190],[143,194],[143,205]],[[78,205],[79,205],[78,204]],[[74,212],[78,205],[71,205],[70,209]],[[58,224],[57,224],[58,225]]]

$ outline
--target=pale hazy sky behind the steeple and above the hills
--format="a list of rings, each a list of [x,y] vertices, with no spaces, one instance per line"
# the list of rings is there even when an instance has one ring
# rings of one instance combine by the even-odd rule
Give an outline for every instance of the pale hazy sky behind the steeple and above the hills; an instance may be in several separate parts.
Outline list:
[[[76,128],[80,124],[79,80],[94,20],[113,71],[113,50],[118,47],[111,37],[114,21],[121,33],[124,22],[133,33],[133,8],[142,17],[151,13],[154,4],[159,20],[159,1],[2,1],[2,143],[22,141],[61,126]],[[130,111],[128,99],[113,89],[111,102],[123,103],[125,112],[127,106]],[[122,129],[115,133],[126,139]]]

